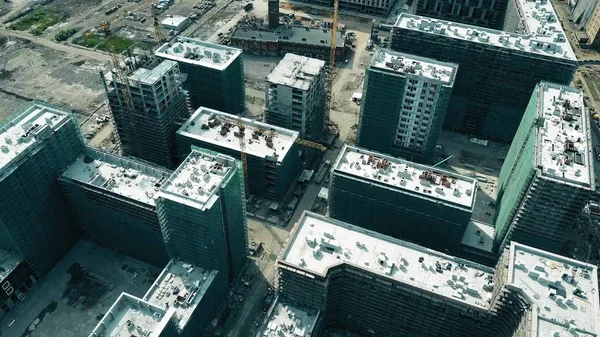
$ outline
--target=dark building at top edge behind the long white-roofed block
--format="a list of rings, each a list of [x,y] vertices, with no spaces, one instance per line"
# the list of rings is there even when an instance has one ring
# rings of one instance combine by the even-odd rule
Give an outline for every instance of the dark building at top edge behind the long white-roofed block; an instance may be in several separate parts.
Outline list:
[[[502,29],[509,0],[442,1],[416,0],[412,7],[416,15],[444,19],[469,25]]]

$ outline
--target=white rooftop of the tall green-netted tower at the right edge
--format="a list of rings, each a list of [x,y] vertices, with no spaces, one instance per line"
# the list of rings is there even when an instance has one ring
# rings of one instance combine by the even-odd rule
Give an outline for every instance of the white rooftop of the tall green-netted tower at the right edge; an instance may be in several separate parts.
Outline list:
[[[542,82],[538,87],[538,118],[535,167],[543,176],[592,188],[592,155],[589,115],[583,93],[558,84]]]

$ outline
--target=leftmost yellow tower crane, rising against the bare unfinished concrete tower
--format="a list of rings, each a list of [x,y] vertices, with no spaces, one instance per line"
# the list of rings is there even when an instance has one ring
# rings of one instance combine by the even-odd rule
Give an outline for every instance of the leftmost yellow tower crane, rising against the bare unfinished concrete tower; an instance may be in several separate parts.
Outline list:
[[[133,105],[131,104],[131,100],[130,100],[129,87],[127,85],[127,83],[128,83],[127,76],[125,75],[125,73],[123,72],[123,69],[121,68],[121,63],[119,61],[119,57],[117,56],[117,53],[115,51],[114,40],[113,40],[114,36],[112,35],[112,32],[110,30],[110,22],[102,21],[102,23],[100,23],[100,31],[102,31],[104,33],[104,35],[106,36],[106,45],[108,47],[108,53],[110,54],[110,57],[112,60],[112,65],[114,67],[113,74],[116,78],[113,79],[113,83],[116,83],[115,91],[118,91],[117,86],[119,86],[122,99],[125,103],[124,108],[127,109],[126,112],[127,112],[127,115],[129,116],[129,126],[131,127],[131,130],[134,132],[134,135],[136,135],[137,134],[137,123],[135,121],[135,117],[133,116],[134,109],[133,109]],[[118,94],[117,94],[117,99],[119,99]],[[121,152],[122,143],[121,143],[121,139],[119,137],[119,132],[117,131],[114,114],[111,112],[110,116],[111,116],[111,122],[113,124],[113,129],[114,129],[113,131],[117,138],[117,142],[119,144],[119,145],[117,145],[118,151]],[[137,138],[137,135],[135,136],[135,138]]]

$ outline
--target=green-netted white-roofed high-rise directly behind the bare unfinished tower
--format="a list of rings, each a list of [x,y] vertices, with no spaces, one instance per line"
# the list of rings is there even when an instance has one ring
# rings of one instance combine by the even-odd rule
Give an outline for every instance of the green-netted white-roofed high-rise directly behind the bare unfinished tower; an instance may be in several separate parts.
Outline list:
[[[239,115],[246,107],[242,51],[178,36],[158,48],[157,57],[179,63],[183,88],[193,109],[201,106]]]

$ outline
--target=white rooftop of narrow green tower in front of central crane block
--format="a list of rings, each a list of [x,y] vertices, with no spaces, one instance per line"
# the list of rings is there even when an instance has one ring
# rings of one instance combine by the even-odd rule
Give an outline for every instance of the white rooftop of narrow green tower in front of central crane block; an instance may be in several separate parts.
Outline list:
[[[160,190],[160,197],[206,209],[217,201],[216,192],[235,169],[235,160],[220,153],[192,152]]]

